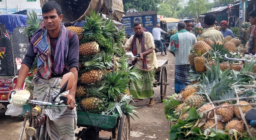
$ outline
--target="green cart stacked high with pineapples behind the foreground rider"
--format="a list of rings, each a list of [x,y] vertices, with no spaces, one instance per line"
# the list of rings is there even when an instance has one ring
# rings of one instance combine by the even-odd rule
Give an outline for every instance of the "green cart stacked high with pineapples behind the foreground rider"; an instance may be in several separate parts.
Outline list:
[[[82,140],[97,140],[99,131],[105,130],[112,132],[113,139],[127,140],[130,117],[137,116],[136,107],[129,105],[132,101],[129,83],[141,77],[131,72],[126,62],[124,28],[118,29],[111,18],[95,11],[91,11],[90,17],[85,16],[85,20],[83,27],[67,27],[78,35],[80,44],[75,98],[77,126],[84,128],[76,135]],[[32,75],[26,82],[31,78]]]

